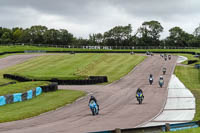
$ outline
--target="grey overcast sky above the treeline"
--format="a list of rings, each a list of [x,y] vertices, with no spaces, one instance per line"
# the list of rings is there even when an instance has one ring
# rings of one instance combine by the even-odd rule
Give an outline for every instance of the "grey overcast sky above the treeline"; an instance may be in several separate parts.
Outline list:
[[[162,38],[174,26],[193,33],[200,24],[200,0],[0,0],[1,27],[44,25],[82,38],[128,24],[134,33],[151,20],[164,27]]]

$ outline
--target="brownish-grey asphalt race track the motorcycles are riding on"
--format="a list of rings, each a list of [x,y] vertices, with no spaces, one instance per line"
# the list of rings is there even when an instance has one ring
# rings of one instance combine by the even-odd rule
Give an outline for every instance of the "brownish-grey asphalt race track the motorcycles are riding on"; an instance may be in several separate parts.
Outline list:
[[[32,55],[32,57],[38,55]],[[31,55],[16,55],[0,59],[0,68],[21,63],[30,59]],[[19,62],[16,62],[20,59]],[[115,128],[133,128],[140,125],[162,111],[167,98],[167,85],[176,64],[176,57],[164,61],[158,55],[148,57],[135,67],[125,77],[109,85],[90,86],[59,86],[59,89],[85,90],[88,96],[79,99],[71,105],[67,105],[55,111],[42,115],[0,124],[1,133],[66,133],[89,132],[109,130]],[[4,60],[4,63],[2,63]],[[159,76],[162,75],[162,67],[167,67],[164,75],[163,88],[158,86]],[[149,85],[148,76],[154,76],[153,85]],[[136,98],[136,89],[140,87],[144,91],[143,104],[139,105]],[[88,107],[90,94],[97,98],[100,105],[100,114],[92,116]]]

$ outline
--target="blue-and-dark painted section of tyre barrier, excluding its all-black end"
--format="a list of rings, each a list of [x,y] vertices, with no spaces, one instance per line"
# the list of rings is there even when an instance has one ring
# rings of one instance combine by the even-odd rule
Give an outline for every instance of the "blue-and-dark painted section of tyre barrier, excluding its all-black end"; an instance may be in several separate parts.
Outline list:
[[[26,101],[32,99],[33,97],[39,96],[40,94],[42,94],[42,88],[36,87],[35,89],[24,93],[14,93],[11,95],[0,96],[0,106]]]

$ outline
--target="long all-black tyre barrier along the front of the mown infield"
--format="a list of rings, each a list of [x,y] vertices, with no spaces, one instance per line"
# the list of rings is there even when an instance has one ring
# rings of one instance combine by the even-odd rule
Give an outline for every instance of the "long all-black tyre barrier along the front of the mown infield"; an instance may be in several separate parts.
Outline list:
[[[19,82],[26,81],[49,81],[49,82],[57,82],[58,85],[90,85],[90,84],[98,84],[108,82],[107,76],[89,76],[88,79],[85,80],[59,80],[56,78],[52,78],[51,80],[40,80],[40,79],[30,79],[23,76],[13,75],[13,74],[3,74],[4,78],[9,78],[12,80],[17,80]]]

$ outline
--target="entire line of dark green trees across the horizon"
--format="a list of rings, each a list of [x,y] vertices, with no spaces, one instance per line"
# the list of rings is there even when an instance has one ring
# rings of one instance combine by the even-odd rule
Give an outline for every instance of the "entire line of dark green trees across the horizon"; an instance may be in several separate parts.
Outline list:
[[[109,31],[90,34],[89,39],[76,38],[66,29],[48,29],[37,25],[27,29],[0,27],[0,43],[31,43],[31,44],[55,44],[74,46],[177,46],[200,47],[200,25],[195,28],[193,34],[185,32],[180,27],[169,30],[169,36],[160,39],[163,27],[158,21],[146,21],[132,33],[131,24],[127,26],[115,26]]]

